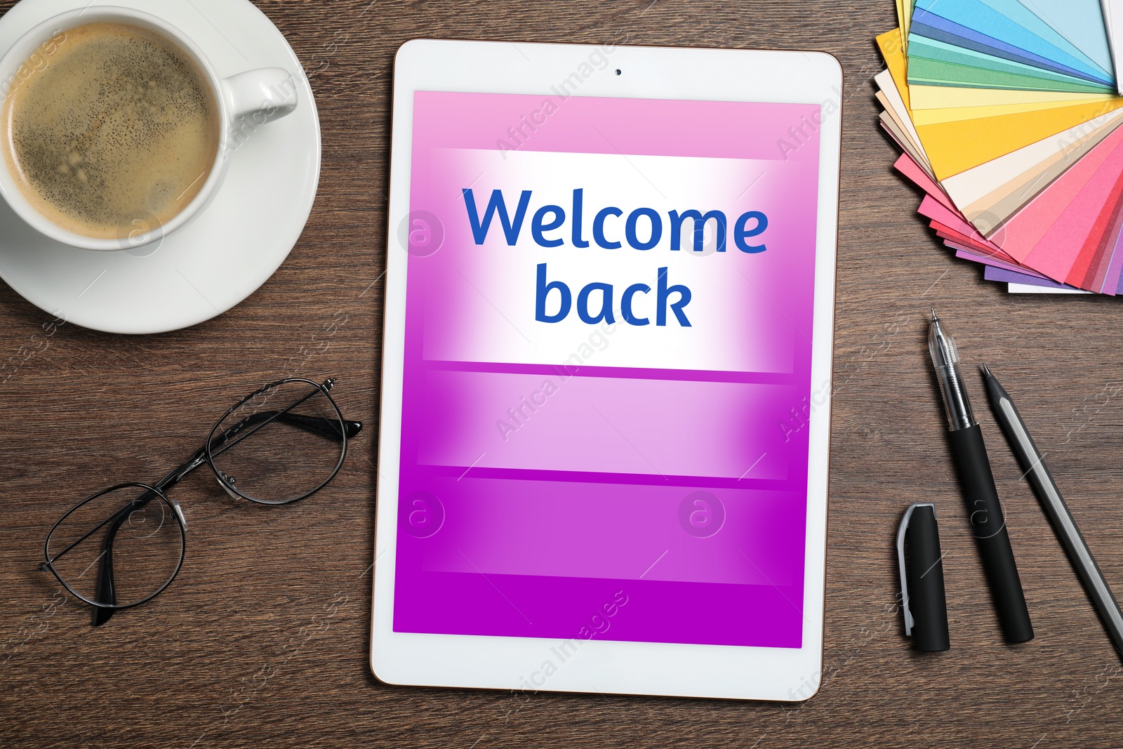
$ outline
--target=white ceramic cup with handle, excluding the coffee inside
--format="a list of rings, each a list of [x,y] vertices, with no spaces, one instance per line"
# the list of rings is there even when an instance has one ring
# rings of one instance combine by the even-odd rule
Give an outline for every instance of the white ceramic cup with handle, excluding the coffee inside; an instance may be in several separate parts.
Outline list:
[[[75,234],[49,220],[24,197],[4,157],[0,154],[0,195],[11,209],[37,231],[57,241],[97,250],[136,249],[188,223],[214,198],[226,176],[230,156],[258,127],[289,115],[296,108],[296,84],[281,67],[263,67],[221,79],[199,46],[180,29],[150,13],[130,8],[100,6],[75,9],[39,24],[0,57],[0,101],[16,83],[51,65],[51,54],[65,44],[67,30],[98,21],[128,24],[162,34],[191,56],[203,72],[219,109],[221,135],[214,164],[199,194],[167,222],[159,225],[154,217],[137,217],[122,227],[117,239],[95,239]],[[33,57],[35,55],[35,57]],[[28,64],[29,63],[29,64]],[[0,147],[10,148],[9,143]]]

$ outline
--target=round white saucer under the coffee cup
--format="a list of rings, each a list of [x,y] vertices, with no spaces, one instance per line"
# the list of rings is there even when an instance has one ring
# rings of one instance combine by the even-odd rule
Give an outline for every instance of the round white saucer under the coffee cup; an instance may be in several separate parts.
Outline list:
[[[284,67],[296,110],[257,129],[230,156],[213,202],[189,225],[128,252],[76,249],[47,239],[0,200],[0,277],[44,311],[121,334],[177,330],[254,293],[289,256],[320,180],[320,120],[304,68],[249,0],[94,0],[159,16],[193,38],[226,77]],[[91,4],[94,4],[91,3]],[[0,51],[84,0],[22,0],[0,18]]]

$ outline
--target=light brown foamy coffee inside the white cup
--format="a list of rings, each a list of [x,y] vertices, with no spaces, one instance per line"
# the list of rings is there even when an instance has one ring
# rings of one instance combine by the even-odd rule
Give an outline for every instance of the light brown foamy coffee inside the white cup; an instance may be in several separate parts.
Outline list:
[[[179,45],[137,26],[88,24],[30,70],[4,101],[0,136],[20,191],[54,223],[122,238],[166,223],[199,194],[218,154],[218,106]]]

